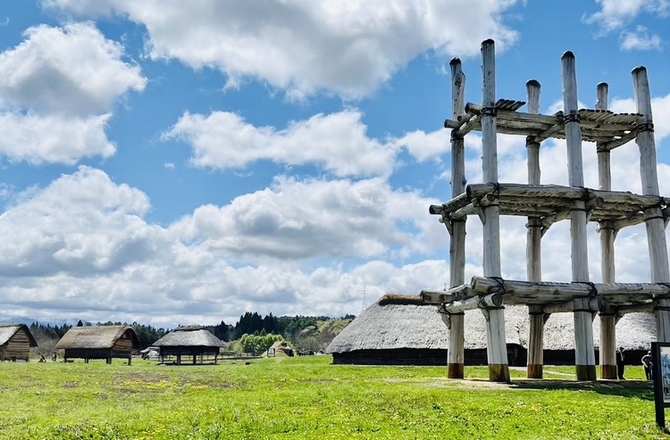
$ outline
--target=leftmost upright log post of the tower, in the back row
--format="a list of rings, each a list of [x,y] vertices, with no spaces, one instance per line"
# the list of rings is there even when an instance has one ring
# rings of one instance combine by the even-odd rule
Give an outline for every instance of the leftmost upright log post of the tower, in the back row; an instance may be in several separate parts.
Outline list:
[[[461,61],[454,58],[451,66],[451,105],[456,120],[465,114],[465,74]],[[465,140],[456,130],[451,132],[451,196],[465,193]],[[449,286],[465,283],[465,220],[451,220],[449,242]],[[465,314],[449,313],[448,378],[462,379],[465,374]]]

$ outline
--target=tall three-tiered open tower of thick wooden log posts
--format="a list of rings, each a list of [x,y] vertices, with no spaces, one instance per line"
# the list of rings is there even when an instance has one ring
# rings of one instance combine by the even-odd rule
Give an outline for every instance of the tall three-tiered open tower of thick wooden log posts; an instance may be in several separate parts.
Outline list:
[[[550,313],[574,314],[575,369],[578,380],[596,379],[592,320],[600,319],[601,378],[616,379],[616,321],[624,313],[653,311],[657,340],[670,341],[670,270],[666,245],[667,203],[658,194],[657,156],[647,70],[632,71],[637,113],[607,110],[607,84],[598,85],[596,109],[578,109],[574,54],[562,57],[564,111],[540,114],[540,84],[527,83],[524,102],[496,100],[495,46],[482,43],[482,104],[465,104],[465,75],[461,62],[452,60],[451,129],[452,198],[431,205],[451,237],[448,290],[424,290],[425,303],[440,305],[449,328],[448,377],[464,374],[464,311],[479,308],[487,320],[487,357],[491,381],[509,381],[503,303],[528,306],[530,342],[528,378],[542,377],[544,323]],[[465,185],[464,137],[482,132],[482,168],[486,183]],[[526,137],[528,184],[498,182],[498,133]],[[567,144],[568,186],[540,185],[540,144],[549,137]],[[610,153],[635,140],[640,147],[642,195],[612,191]],[[599,188],[584,187],[582,141],[595,142],[598,152]],[[465,220],[477,215],[483,230],[483,277],[465,284]],[[501,278],[500,215],[528,218],[527,281]],[[559,220],[570,220],[572,282],[543,282],[540,245],[544,232]],[[598,223],[602,255],[602,283],[589,276],[587,221]],[[644,222],[649,244],[651,283],[615,283],[616,232]]]

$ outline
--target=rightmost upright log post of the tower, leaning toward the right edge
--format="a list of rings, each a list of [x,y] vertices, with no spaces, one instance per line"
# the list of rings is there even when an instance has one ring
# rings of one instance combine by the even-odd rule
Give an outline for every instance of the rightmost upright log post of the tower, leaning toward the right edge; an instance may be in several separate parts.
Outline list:
[[[635,143],[640,147],[640,174],[642,195],[658,195],[656,141],[654,139],[654,120],[651,113],[651,93],[647,69],[638,67],[632,71],[637,112],[641,113],[638,135]],[[670,282],[668,269],[666,225],[660,206],[644,210],[644,223],[647,227],[651,281]],[[656,332],[658,342],[670,341],[670,300],[659,299],[654,302]]]

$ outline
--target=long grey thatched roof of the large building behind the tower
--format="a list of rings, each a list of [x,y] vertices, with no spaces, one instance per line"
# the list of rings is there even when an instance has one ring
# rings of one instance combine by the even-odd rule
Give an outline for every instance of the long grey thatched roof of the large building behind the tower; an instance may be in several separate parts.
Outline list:
[[[401,301],[373,303],[332,340],[327,353],[355,350],[441,349],[448,350],[449,332],[434,305]],[[507,344],[528,348],[530,321],[525,306],[507,306]],[[593,338],[599,346],[599,319],[593,322]],[[656,321],[649,313],[629,313],[616,325],[616,346],[647,350],[656,340]],[[465,312],[465,349],[486,348],[486,320],[481,311]],[[573,313],[555,313],[545,325],[545,350],[574,349]]]

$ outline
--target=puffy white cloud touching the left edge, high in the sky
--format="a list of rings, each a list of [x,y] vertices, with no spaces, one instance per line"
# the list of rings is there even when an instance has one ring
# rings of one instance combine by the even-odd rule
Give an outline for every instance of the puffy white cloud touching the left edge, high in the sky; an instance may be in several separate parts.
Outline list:
[[[111,156],[105,129],[116,100],[144,89],[138,66],[90,23],[29,28],[0,53],[0,154],[72,164]]]

